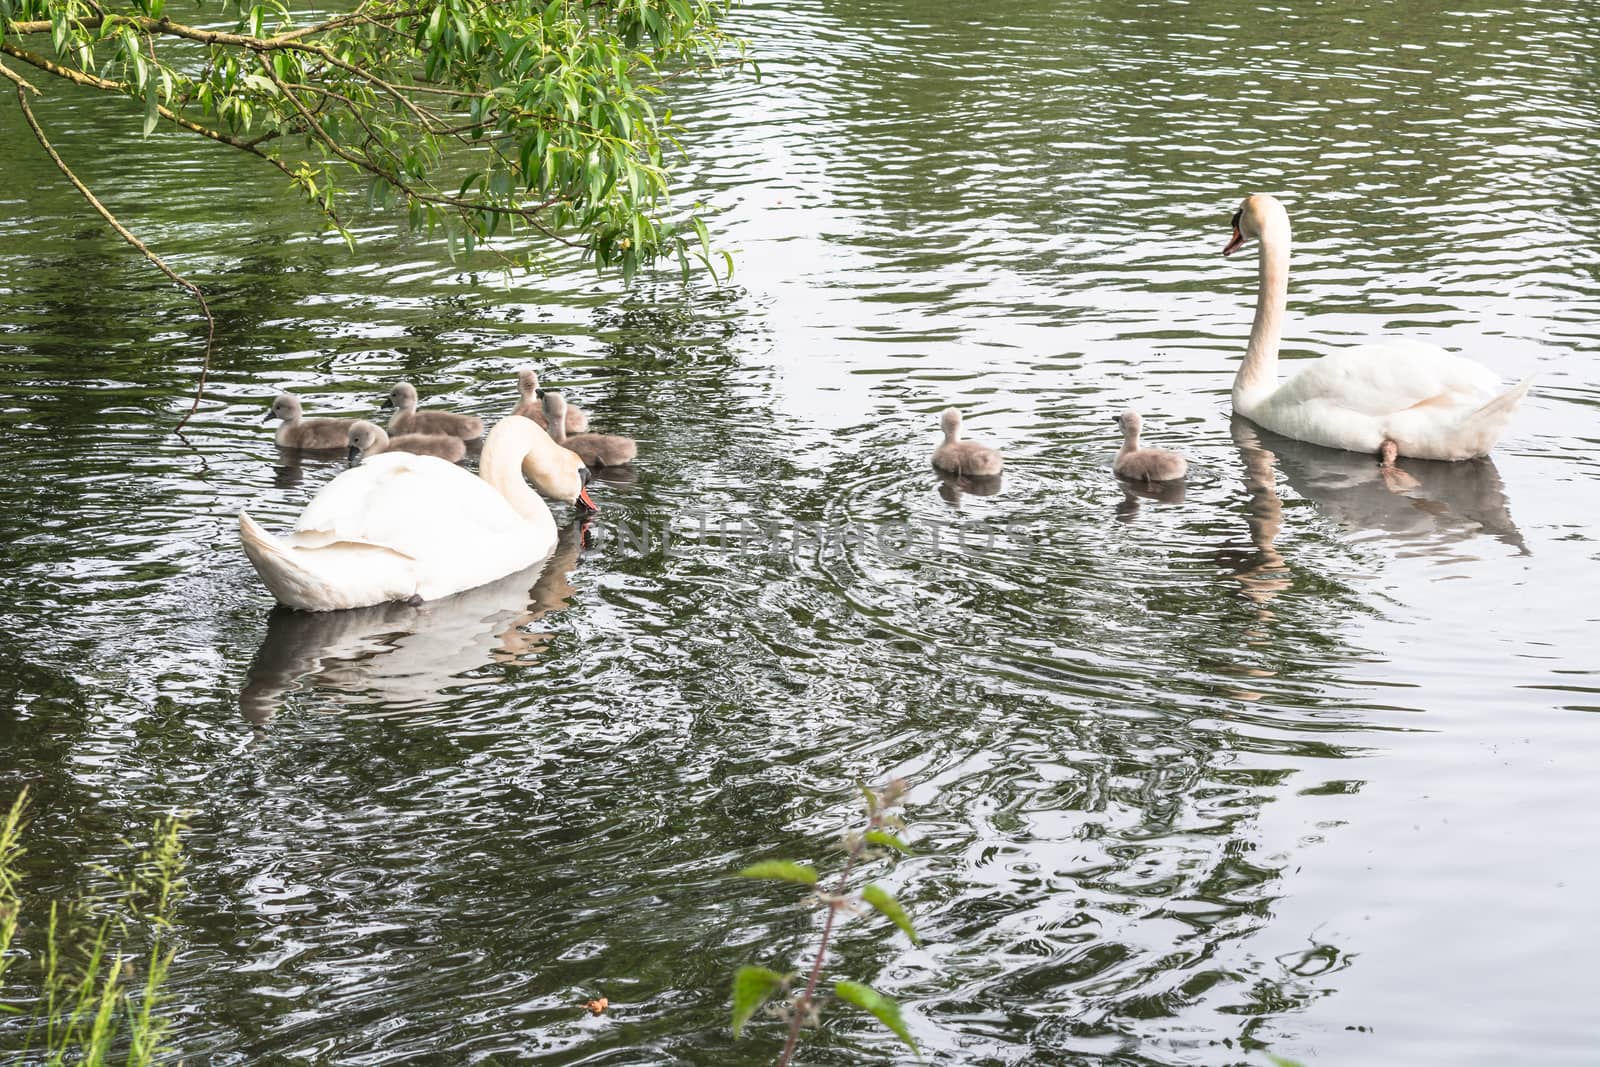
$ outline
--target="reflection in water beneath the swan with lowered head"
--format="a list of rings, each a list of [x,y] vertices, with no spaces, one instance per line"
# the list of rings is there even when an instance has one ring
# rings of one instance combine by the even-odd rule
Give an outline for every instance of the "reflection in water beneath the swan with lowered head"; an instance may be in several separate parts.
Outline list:
[[[568,574],[581,549],[582,525],[574,522],[542,563],[454,597],[347,611],[275,608],[245,672],[240,710],[266,726],[291,693],[310,689],[422,705],[486,662],[534,657],[552,635],[531,624],[573,597]]]

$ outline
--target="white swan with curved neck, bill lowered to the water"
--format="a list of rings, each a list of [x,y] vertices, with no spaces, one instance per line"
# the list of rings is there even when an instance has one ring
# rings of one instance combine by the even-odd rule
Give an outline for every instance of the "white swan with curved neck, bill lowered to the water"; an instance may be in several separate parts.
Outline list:
[[[594,509],[589,470],[528,419],[490,432],[483,477],[434,456],[382,453],[312,498],[275,537],[238,514],[245,555],[278,603],[304,611],[437,600],[520,571],[555,547],[550,509],[528,488]]]

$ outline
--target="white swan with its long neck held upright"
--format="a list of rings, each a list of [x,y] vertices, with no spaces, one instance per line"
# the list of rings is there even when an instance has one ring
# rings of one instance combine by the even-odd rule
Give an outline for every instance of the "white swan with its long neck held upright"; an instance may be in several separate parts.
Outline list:
[[[1245,197],[1222,254],[1261,242],[1261,291],[1250,347],[1234,378],[1234,411],[1312,445],[1397,456],[1486,456],[1533,379],[1501,392],[1488,368],[1419,341],[1386,341],[1307,362],[1278,384],[1290,288],[1290,216],[1274,197]]]

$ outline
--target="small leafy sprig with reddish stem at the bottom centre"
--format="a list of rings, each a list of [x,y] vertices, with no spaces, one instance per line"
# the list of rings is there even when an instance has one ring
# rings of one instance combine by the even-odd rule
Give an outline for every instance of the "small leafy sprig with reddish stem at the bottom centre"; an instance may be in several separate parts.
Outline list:
[[[763,1005],[768,1005],[776,997],[786,998],[778,1013],[789,1019],[789,1033],[784,1040],[784,1049],[778,1057],[779,1067],[787,1067],[794,1059],[800,1043],[800,1030],[818,1019],[818,989],[822,979],[822,966],[827,960],[829,944],[843,917],[870,909],[894,923],[914,944],[922,942],[910,921],[910,915],[906,913],[906,909],[901,907],[893,893],[877,883],[867,883],[859,891],[851,891],[851,875],[862,864],[890,853],[910,851],[896,833],[902,827],[894,809],[899,808],[901,798],[906,795],[904,782],[891,779],[880,789],[862,787],[861,792],[866,798],[866,827],[853,830],[845,837],[845,865],[838,872],[838,878],[832,883],[832,888],[818,889],[821,880],[818,870],[787,859],[768,859],[750,864],[739,872],[742,878],[765,878],[806,886],[813,891],[811,902],[826,912],[816,955],[811,958],[811,969],[806,974],[805,985],[795,997],[789,998],[789,993],[797,974],[782,974],[771,968],[752,965],[739,968],[733,976],[733,1035],[736,1038]],[[901,1008],[891,997],[880,993],[870,985],[851,981],[834,982],[834,995],[874,1016],[899,1037],[917,1059],[922,1059],[922,1051],[910,1035],[910,1027],[906,1025]]]

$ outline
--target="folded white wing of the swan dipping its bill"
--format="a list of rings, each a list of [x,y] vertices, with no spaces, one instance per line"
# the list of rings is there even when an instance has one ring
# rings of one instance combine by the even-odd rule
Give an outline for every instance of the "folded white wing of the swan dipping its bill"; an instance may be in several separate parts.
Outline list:
[[[382,453],[330,482],[294,523],[294,544],[381,545],[418,561],[499,555],[526,523],[482,478],[435,456]]]

